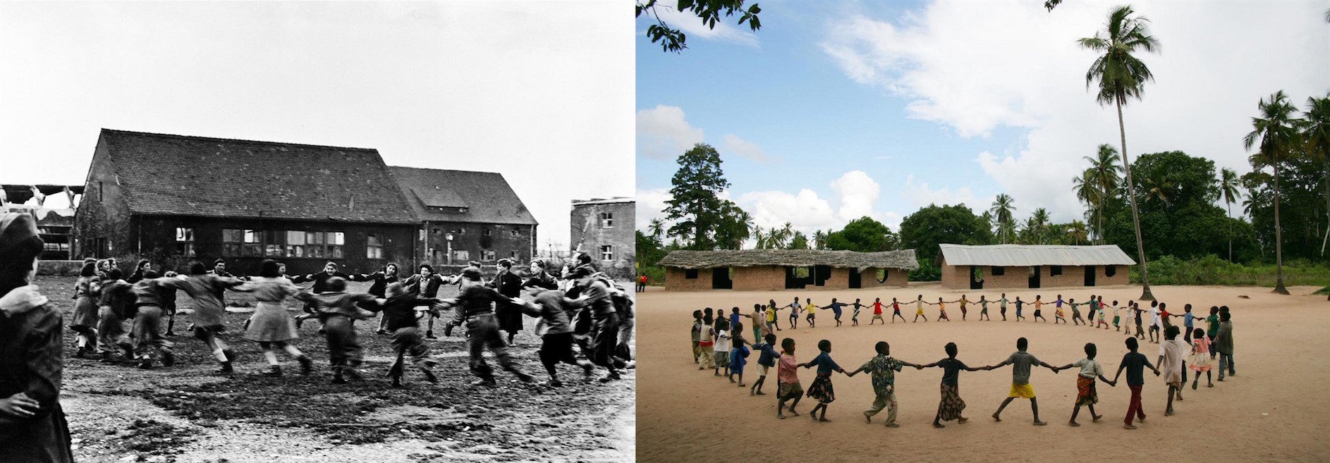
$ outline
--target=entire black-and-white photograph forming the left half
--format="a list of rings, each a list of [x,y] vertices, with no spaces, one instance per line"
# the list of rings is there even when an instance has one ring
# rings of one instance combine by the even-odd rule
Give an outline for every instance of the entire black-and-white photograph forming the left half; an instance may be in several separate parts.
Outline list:
[[[624,1],[0,1],[0,462],[629,462]]]

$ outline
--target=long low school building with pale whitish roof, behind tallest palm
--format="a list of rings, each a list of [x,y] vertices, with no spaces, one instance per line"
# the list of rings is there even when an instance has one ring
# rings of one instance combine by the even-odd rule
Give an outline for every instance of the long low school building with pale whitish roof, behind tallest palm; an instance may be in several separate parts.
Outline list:
[[[1117,245],[939,245],[942,287],[1024,289],[1127,285],[1136,265]]]

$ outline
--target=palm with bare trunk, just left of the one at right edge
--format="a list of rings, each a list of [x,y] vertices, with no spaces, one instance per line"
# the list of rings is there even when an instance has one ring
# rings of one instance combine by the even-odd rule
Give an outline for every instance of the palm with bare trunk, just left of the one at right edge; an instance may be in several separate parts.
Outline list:
[[[1260,150],[1252,156],[1252,164],[1274,168],[1274,291],[1289,294],[1283,287],[1283,233],[1279,229],[1279,165],[1287,161],[1297,149],[1298,132],[1293,121],[1293,105],[1283,90],[1274,92],[1270,98],[1261,98],[1257,106],[1262,117],[1252,118],[1252,133],[1242,137],[1242,148]]]

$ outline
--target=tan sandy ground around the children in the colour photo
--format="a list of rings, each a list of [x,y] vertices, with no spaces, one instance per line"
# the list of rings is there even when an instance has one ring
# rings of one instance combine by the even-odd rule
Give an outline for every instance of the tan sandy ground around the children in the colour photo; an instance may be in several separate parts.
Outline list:
[[[688,333],[692,311],[702,307],[746,307],[775,298],[790,301],[794,295],[811,297],[818,305],[874,297],[948,301],[976,291],[943,290],[938,283],[911,285],[910,289],[843,290],[843,291],[767,291],[767,293],[665,293],[652,289],[638,295],[638,335],[644,346],[640,351],[637,394],[637,459],[640,462],[716,460],[738,462],[762,459],[794,462],[830,460],[959,460],[959,462],[1096,462],[1140,460],[1154,458],[1206,459],[1221,462],[1326,462],[1330,460],[1330,395],[1323,386],[1330,381],[1330,365],[1323,355],[1330,349],[1330,302],[1325,295],[1311,295],[1315,287],[1290,287],[1294,295],[1275,295],[1264,287],[1210,287],[1158,286],[1154,294],[1170,309],[1181,310],[1184,303],[1208,310],[1212,305],[1228,305],[1234,322],[1234,359],[1237,377],[1214,382],[1200,390],[1190,387],[1182,392],[1184,400],[1174,403],[1176,414],[1164,416],[1166,386],[1161,378],[1146,371],[1142,403],[1148,415],[1138,430],[1124,430],[1123,418],[1130,391],[1125,375],[1117,387],[1099,385],[1100,402],[1096,410],[1104,419],[1092,423],[1087,410],[1081,410],[1081,427],[1069,427],[1068,418],[1076,398],[1076,370],[1053,374],[1037,369],[1031,385],[1039,398],[1040,419],[1048,426],[1032,426],[1029,402],[1016,399],[1003,411],[1003,422],[990,415],[1005,399],[1011,385],[1011,367],[994,371],[960,374],[960,396],[966,400],[968,423],[951,422],[946,428],[931,426],[939,399],[940,369],[906,369],[896,374],[899,402],[899,428],[882,426],[886,414],[864,423],[862,411],[872,402],[872,387],[867,375],[833,377],[837,399],[830,406],[830,423],[817,423],[807,418],[814,402],[805,398],[799,403],[801,416],[779,420],[775,418],[775,371],[767,378],[769,395],[750,396],[712,371],[698,371],[689,353]],[[1084,298],[1091,293],[1105,295],[1105,301],[1138,297],[1138,286],[1087,289],[1044,289],[1044,298],[1061,293],[1064,297]],[[999,291],[984,291],[991,298]],[[1008,291],[1008,298],[1020,295],[1033,299],[1035,290]],[[1250,298],[1240,298],[1249,295]],[[818,313],[818,327],[809,329],[801,319],[799,329],[789,329],[789,310],[779,317],[785,329],[778,337],[791,337],[797,342],[797,355],[806,362],[817,355],[817,342],[833,342],[833,358],[847,370],[870,359],[878,341],[891,343],[892,357],[915,362],[935,362],[946,357],[943,345],[955,342],[958,358],[970,366],[995,365],[1007,358],[1016,338],[1029,339],[1029,353],[1041,361],[1061,366],[1084,357],[1085,342],[1099,346],[1099,359],[1105,371],[1116,373],[1127,353],[1121,333],[1092,330],[1052,323],[1015,322],[1015,307],[1008,306],[1008,322],[1001,322],[996,305],[990,306],[992,322],[978,319],[978,307],[970,307],[968,321],[960,321],[960,310],[947,305],[952,322],[868,326],[871,309],[859,315],[859,326],[850,326],[849,310],[845,325],[834,327],[831,311]],[[1033,310],[1027,306],[1028,318]],[[935,319],[938,309],[926,306],[924,313]],[[890,317],[890,309],[883,317]],[[914,306],[902,306],[902,315],[914,318]],[[1068,315],[1071,315],[1068,310]],[[1052,319],[1052,310],[1045,310]],[[1112,321],[1112,314],[1108,317]],[[1146,319],[1148,322],[1148,319]],[[1177,323],[1181,323],[1178,319]],[[747,329],[745,327],[745,331]],[[751,335],[751,334],[749,334]],[[1158,347],[1141,346],[1152,363]],[[749,359],[749,375],[757,379],[757,357]],[[805,387],[813,379],[811,370],[799,370]],[[1190,375],[1188,378],[1190,381]]]

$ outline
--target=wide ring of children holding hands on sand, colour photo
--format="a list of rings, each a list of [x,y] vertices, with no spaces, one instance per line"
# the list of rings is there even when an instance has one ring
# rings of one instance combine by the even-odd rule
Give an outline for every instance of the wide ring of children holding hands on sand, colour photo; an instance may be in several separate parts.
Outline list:
[[[956,345],[947,343],[944,350],[947,358],[938,362],[919,365],[910,363],[896,358],[890,357],[890,345],[886,342],[878,342],[875,346],[876,357],[868,359],[859,369],[854,371],[846,371],[835,361],[831,359],[831,342],[822,339],[818,342],[818,355],[813,361],[806,363],[799,363],[795,359],[795,343],[791,338],[781,339],[779,351],[777,351],[775,334],[774,331],[781,331],[778,323],[777,313],[783,309],[790,310],[789,327],[797,329],[799,322],[799,314],[805,315],[805,321],[810,327],[815,327],[817,317],[815,310],[819,309],[813,303],[811,298],[805,298],[801,305],[799,298],[795,297],[789,305],[777,305],[774,299],[769,301],[766,305],[755,303],[753,305],[751,314],[741,314],[738,307],[733,307],[729,318],[725,317],[724,310],[716,311],[713,314],[710,307],[705,310],[693,311],[693,329],[692,329],[692,345],[693,345],[693,362],[698,365],[698,370],[713,370],[714,375],[729,377],[730,382],[734,383],[734,377],[738,377],[738,386],[745,387],[743,383],[743,370],[747,363],[747,357],[750,353],[758,353],[758,375],[759,378],[753,386],[749,387],[749,395],[766,395],[762,392],[762,386],[766,383],[766,375],[769,369],[777,367],[777,418],[783,419],[786,416],[786,402],[789,403],[789,414],[798,416],[799,414],[794,410],[798,406],[799,399],[805,395],[817,400],[817,404],[809,412],[813,420],[826,422],[826,408],[835,400],[835,391],[831,386],[831,374],[842,373],[846,377],[854,377],[859,373],[868,373],[872,377],[872,390],[876,395],[872,402],[872,407],[863,411],[863,416],[867,422],[872,422],[872,416],[876,415],[883,408],[887,408],[887,427],[898,427],[896,423],[896,395],[895,395],[895,373],[900,371],[902,367],[940,367],[943,369],[942,377],[942,402],[938,404],[938,414],[934,416],[932,426],[943,427],[942,422],[956,420],[958,423],[964,423],[967,418],[962,416],[962,411],[966,408],[966,402],[960,399],[958,388],[958,377],[960,370],[978,371],[978,370],[994,370],[1004,366],[1012,366],[1012,382],[1011,391],[1007,395],[1007,400],[998,407],[998,411],[992,414],[994,420],[1001,420],[1001,411],[1013,399],[1023,398],[1029,399],[1029,407],[1033,412],[1035,424],[1044,426],[1045,422],[1039,420],[1039,402],[1035,399],[1035,390],[1029,385],[1029,370],[1035,366],[1041,366],[1057,373],[1060,370],[1067,370],[1072,367],[1080,369],[1080,374],[1076,378],[1076,403],[1072,408],[1072,416],[1069,426],[1080,426],[1076,422],[1077,414],[1080,414],[1081,407],[1088,407],[1093,420],[1099,420],[1101,415],[1095,412],[1095,403],[1099,402],[1099,394],[1095,387],[1095,379],[1099,379],[1109,386],[1117,386],[1117,381],[1127,373],[1127,386],[1130,388],[1132,398],[1127,408],[1127,418],[1124,419],[1124,427],[1128,430],[1134,430],[1136,426],[1133,420],[1145,422],[1145,411],[1141,407],[1141,386],[1144,381],[1144,370],[1149,369],[1156,377],[1162,377],[1164,382],[1168,385],[1168,407],[1164,415],[1173,414],[1173,399],[1182,400],[1182,388],[1186,386],[1186,370],[1194,371],[1192,381],[1192,388],[1196,390],[1200,382],[1201,373],[1205,373],[1206,387],[1214,387],[1212,379],[1212,370],[1217,369],[1220,373],[1220,381],[1224,381],[1225,370],[1232,377],[1233,370],[1233,323],[1229,319],[1229,307],[1210,307],[1209,317],[1204,318],[1206,329],[1201,329],[1197,321],[1201,317],[1192,314],[1192,305],[1186,305],[1182,314],[1169,313],[1168,305],[1152,301],[1149,309],[1142,309],[1134,301],[1128,301],[1125,306],[1119,306],[1117,301],[1112,305],[1104,303],[1103,295],[1091,295],[1088,302],[1076,302],[1076,299],[1063,301],[1061,294],[1053,302],[1044,302],[1040,295],[1035,297],[1033,302],[1021,301],[1016,297],[1013,301],[1007,299],[1007,294],[1003,293],[999,299],[987,299],[987,297],[980,295],[979,301],[970,301],[966,295],[962,295],[956,301],[943,301],[938,298],[938,302],[926,302],[923,295],[919,295],[914,301],[904,302],[915,303],[915,319],[918,323],[919,318],[924,322],[928,321],[927,315],[923,313],[924,305],[938,306],[939,314],[936,321],[951,321],[947,317],[947,303],[958,303],[960,307],[962,321],[968,315],[968,307],[971,305],[978,305],[980,307],[979,319],[992,321],[988,315],[988,305],[996,303],[1001,314],[1001,321],[1007,321],[1007,306],[1008,303],[1015,305],[1015,321],[1024,321],[1024,306],[1033,306],[1033,322],[1048,322],[1043,317],[1044,305],[1052,305],[1055,310],[1053,323],[1068,323],[1064,314],[1064,307],[1069,307],[1072,311],[1071,322],[1075,325],[1084,325],[1091,329],[1103,327],[1108,330],[1109,325],[1107,322],[1108,313],[1113,314],[1113,327],[1119,331],[1132,335],[1130,326],[1134,326],[1136,333],[1130,338],[1127,338],[1128,353],[1123,355],[1123,361],[1119,363],[1117,374],[1113,379],[1104,377],[1104,370],[1100,366],[1096,357],[1095,343],[1085,345],[1085,358],[1079,359],[1073,363],[1064,366],[1048,365],[1035,355],[1027,351],[1028,341],[1020,338],[1016,341],[1016,351],[1011,354],[1007,359],[992,366],[970,367],[964,362],[956,358]],[[892,310],[891,323],[900,318],[900,322],[906,322],[904,317],[900,315],[902,302],[896,298],[891,298],[891,302],[883,303],[880,298],[874,299],[872,303],[862,303],[861,299],[855,299],[854,303],[838,302],[835,298],[831,303],[822,306],[821,309],[830,309],[835,315],[835,326],[841,326],[841,314],[845,307],[853,307],[854,314],[851,315],[851,322],[854,326],[859,325],[859,311],[861,309],[872,307],[872,318],[868,325],[883,321],[882,311],[884,307]],[[1089,318],[1083,318],[1080,307],[1087,306],[1089,310]],[[1125,310],[1125,313],[1123,313]],[[1142,314],[1149,315],[1149,330],[1142,330],[1141,318]],[[1097,318],[1096,318],[1097,317]],[[1181,317],[1184,319],[1182,327],[1173,325],[1170,318]],[[749,341],[743,337],[743,322],[747,318],[751,323],[753,339]],[[1097,321],[1097,322],[1096,322]],[[883,325],[886,322],[883,321]],[[1156,365],[1152,365],[1144,354],[1137,353],[1140,347],[1137,339],[1145,339],[1146,333],[1149,334],[1149,341],[1160,345],[1160,355],[1156,359]],[[1185,335],[1180,337],[1180,334]],[[1162,334],[1162,335],[1161,335]],[[751,350],[749,349],[751,346]],[[1218,366],[1214,365],[1214,358],[1218,357]],[[798,369],[813,369],[817,367],[817,378],[809,386],[807,391],[799,383]],[[821,416],[818,411],[821,410]]]

